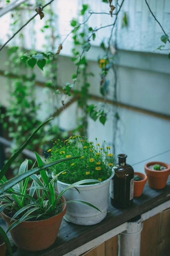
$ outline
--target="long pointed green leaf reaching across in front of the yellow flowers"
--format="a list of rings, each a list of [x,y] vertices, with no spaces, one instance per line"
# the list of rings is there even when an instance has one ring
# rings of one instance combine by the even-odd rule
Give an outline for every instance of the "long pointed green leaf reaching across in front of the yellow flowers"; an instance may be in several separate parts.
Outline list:
[[[15,184],[17,184],[18,182],[20,182],[21,180],[23,179],[26,179],[27,177],[30,177],[31,175],[41,171],[41,170],[44,170],[44,169],[47,169],[55,164],[58,164],[60,162],[64,162],[64,161],[68,161],[68,160],[72,160],[72,159],[77,159],[77,158],[80,158],[81,156],[78,156],[78,157],[68,157],[68,158],[63,158],[63,159],[59,159],[59,160],[56,160],[54,162],[51,162],[51,163],[47,163],[43,166],[40,166],[40,167],[36,167],[32,170],[29,170],[27,172],[24,172],[8,181],[6,181],[5,183],[3,184],[0,184],[0,195],[3,194],[5,191],[7,191],[8,189],[10,189],[11,187],[13,187]],[[95,180],[96,181],[96,180]],[[84,182],[85,183],[85,182]]]

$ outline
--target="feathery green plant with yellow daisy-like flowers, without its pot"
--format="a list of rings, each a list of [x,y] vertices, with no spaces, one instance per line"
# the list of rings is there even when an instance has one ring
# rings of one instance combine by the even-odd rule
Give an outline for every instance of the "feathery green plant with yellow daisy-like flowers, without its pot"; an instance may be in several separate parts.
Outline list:
[[[111,146],[105,142],[105,147],[101,147],[97,139],[94,145],[85,137],[73,135],[65,141],[58,140],[47,152],[49,153],[49,157],[45,160],[47,163],[63,157],[81,156],[73,162],[62,162],[57,167],[49,168],[54,175],[63,171],[59,180],[67,184],[83,179],[104,181],[114,171],[115,155],[111,153]]]

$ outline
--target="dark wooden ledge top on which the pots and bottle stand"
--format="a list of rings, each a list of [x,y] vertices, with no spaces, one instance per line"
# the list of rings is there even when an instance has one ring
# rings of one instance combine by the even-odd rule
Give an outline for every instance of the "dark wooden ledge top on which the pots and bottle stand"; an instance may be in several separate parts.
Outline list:
[[[65,220],[63,220],[59,230],[59,236],[50,248],[41,252],[26,252],[18,249],[14,256],[62,256],[69,253],[73,249],[88,243],[98,236],[120,226],[138,214],[145,213],[163,202],[168,201],[169,199],[170,176],[164,189],[153,190],[146,184],[142,196],[134,198],[133,205],[127,209],[116,209],[111,206],[109,200],[109,212],[106,218],[100,223],[92,226],[80,226],[67,223]],[[148,221],[150,222],[150,219]],[[153,237],[153,233],[156,232],[156,226],[149,231],[150,233],[149,235],[147,234],[147,237]],[[156,244],[156,242],[154,243]],[[149,253],[146,253],[145,256],[146,255],[152,256]]]

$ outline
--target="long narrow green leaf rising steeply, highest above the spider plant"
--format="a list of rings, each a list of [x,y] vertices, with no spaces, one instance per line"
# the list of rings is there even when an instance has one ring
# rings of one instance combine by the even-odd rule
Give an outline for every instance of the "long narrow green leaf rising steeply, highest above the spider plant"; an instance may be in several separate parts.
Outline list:
[[[33,136],[35,135],[35,133],[46,123],[48,123],[49,121],[53,120],[54,118],[51,117],[48,120],[46,120],[44,123],[42,123],[38,128],[35,129],[35,131],[31,134],[31,136],[28,138],[28,140],[24,143],[24,145],[22,145],[18,151],[7,161],[7,163],[4,165],[4,167],[2,168],[2,170],[0,171],[0,179],[2,179],[2,177],[6,174],[7,170],[9,169],[9,167],[11,166],[11,164],[14,162],[14,160],[19,156],[19,154],[22,152],[22,150],[30,143],[30,141],[32,140]],[[18,183],[18,182],[17,182]]]

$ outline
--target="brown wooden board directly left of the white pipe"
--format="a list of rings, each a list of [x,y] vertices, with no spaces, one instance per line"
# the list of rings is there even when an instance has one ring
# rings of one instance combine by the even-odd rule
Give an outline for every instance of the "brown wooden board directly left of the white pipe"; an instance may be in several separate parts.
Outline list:
[[[118,256],[118,235],[105,242],[105,256]]]

